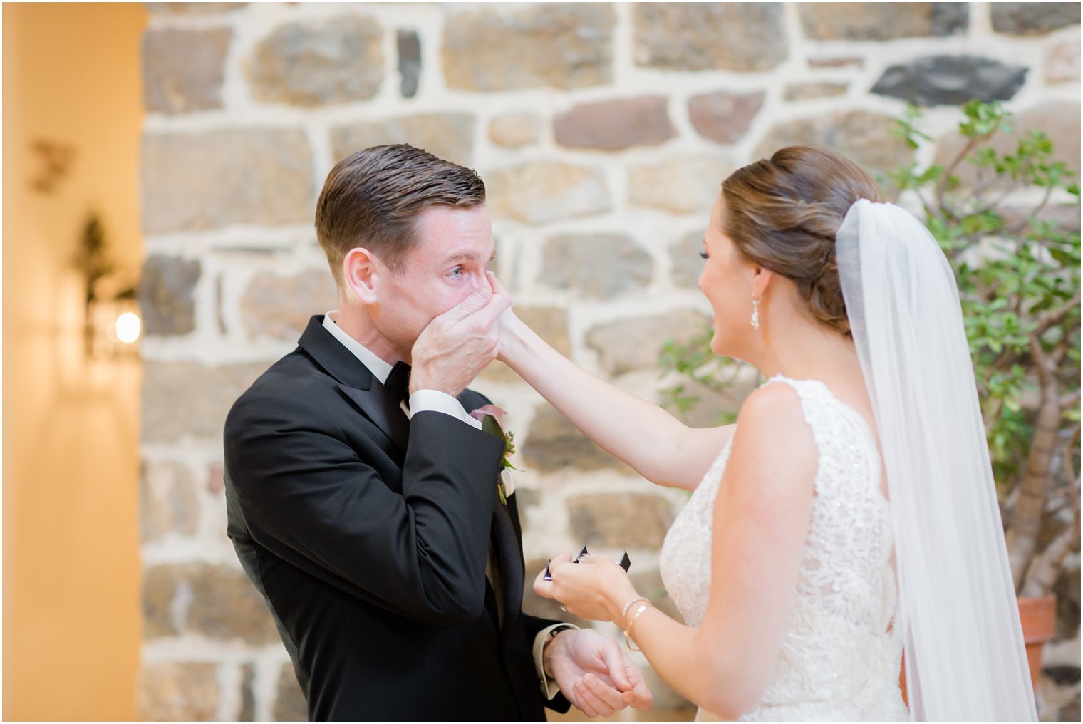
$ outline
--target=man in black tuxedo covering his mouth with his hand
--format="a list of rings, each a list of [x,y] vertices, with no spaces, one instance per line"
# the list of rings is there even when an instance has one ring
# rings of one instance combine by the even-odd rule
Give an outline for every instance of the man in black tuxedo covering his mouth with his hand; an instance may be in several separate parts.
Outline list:
[[[466,389],[510,301],[486,276],[484,201],[472,170],[408,145],[340,161],[316,207],[339,309],[313,316],[225,423],[229,535],[312,720],[651,703],[615,642],[520,610],[504,440]]]

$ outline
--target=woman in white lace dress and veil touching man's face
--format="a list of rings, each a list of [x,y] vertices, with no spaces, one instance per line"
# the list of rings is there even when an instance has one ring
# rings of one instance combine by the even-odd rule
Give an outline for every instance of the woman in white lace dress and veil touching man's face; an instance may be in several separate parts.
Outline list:
[[[615,622],[701,720],[1034,720],[936,242],[852,163],[787,147],[726,179],[703,244],[712,350],[767,379],[735,425],[689,428],[500,322],[500,359],[572,423],[692,491],[661,556],[686,623],[601,556],[535,591]]]

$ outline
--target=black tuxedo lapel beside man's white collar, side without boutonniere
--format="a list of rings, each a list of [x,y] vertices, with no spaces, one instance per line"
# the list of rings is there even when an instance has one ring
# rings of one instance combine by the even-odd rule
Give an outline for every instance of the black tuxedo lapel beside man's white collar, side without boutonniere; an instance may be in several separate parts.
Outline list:
[[[338,387],[347,398],[405,454],[409,418],[368,367],[324,327],[322,314],[309,320],[309,326],[297,344],[338,380]]]

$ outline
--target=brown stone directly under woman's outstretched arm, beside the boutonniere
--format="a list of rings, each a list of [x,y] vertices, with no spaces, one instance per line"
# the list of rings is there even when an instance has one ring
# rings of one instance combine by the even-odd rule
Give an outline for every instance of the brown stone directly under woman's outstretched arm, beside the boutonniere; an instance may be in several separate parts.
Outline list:
[[[534,416],[526,439],[518,452],[525,469],[542,474],[566,467],[630,471],[624,463],[591,442],[548,404],[543,405]]]

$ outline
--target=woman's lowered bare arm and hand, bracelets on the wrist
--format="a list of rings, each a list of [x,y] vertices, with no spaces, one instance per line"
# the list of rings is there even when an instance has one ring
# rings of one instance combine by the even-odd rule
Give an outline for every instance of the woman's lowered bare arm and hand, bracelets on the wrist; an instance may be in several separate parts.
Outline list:
[[[635,620],[631,635],[654,670],[720,716],[755,707],[770,681],[793,608],[815,466],[815,443],[793,390],[771,385],[754,392],[741,410],[715,501],[704,620],[688,626],[654,607]],[[639,609],[622,610],[638,594],[612,561],[550,568],[553,583],[535,582],[535,590],[578,616],[625,629]]]

